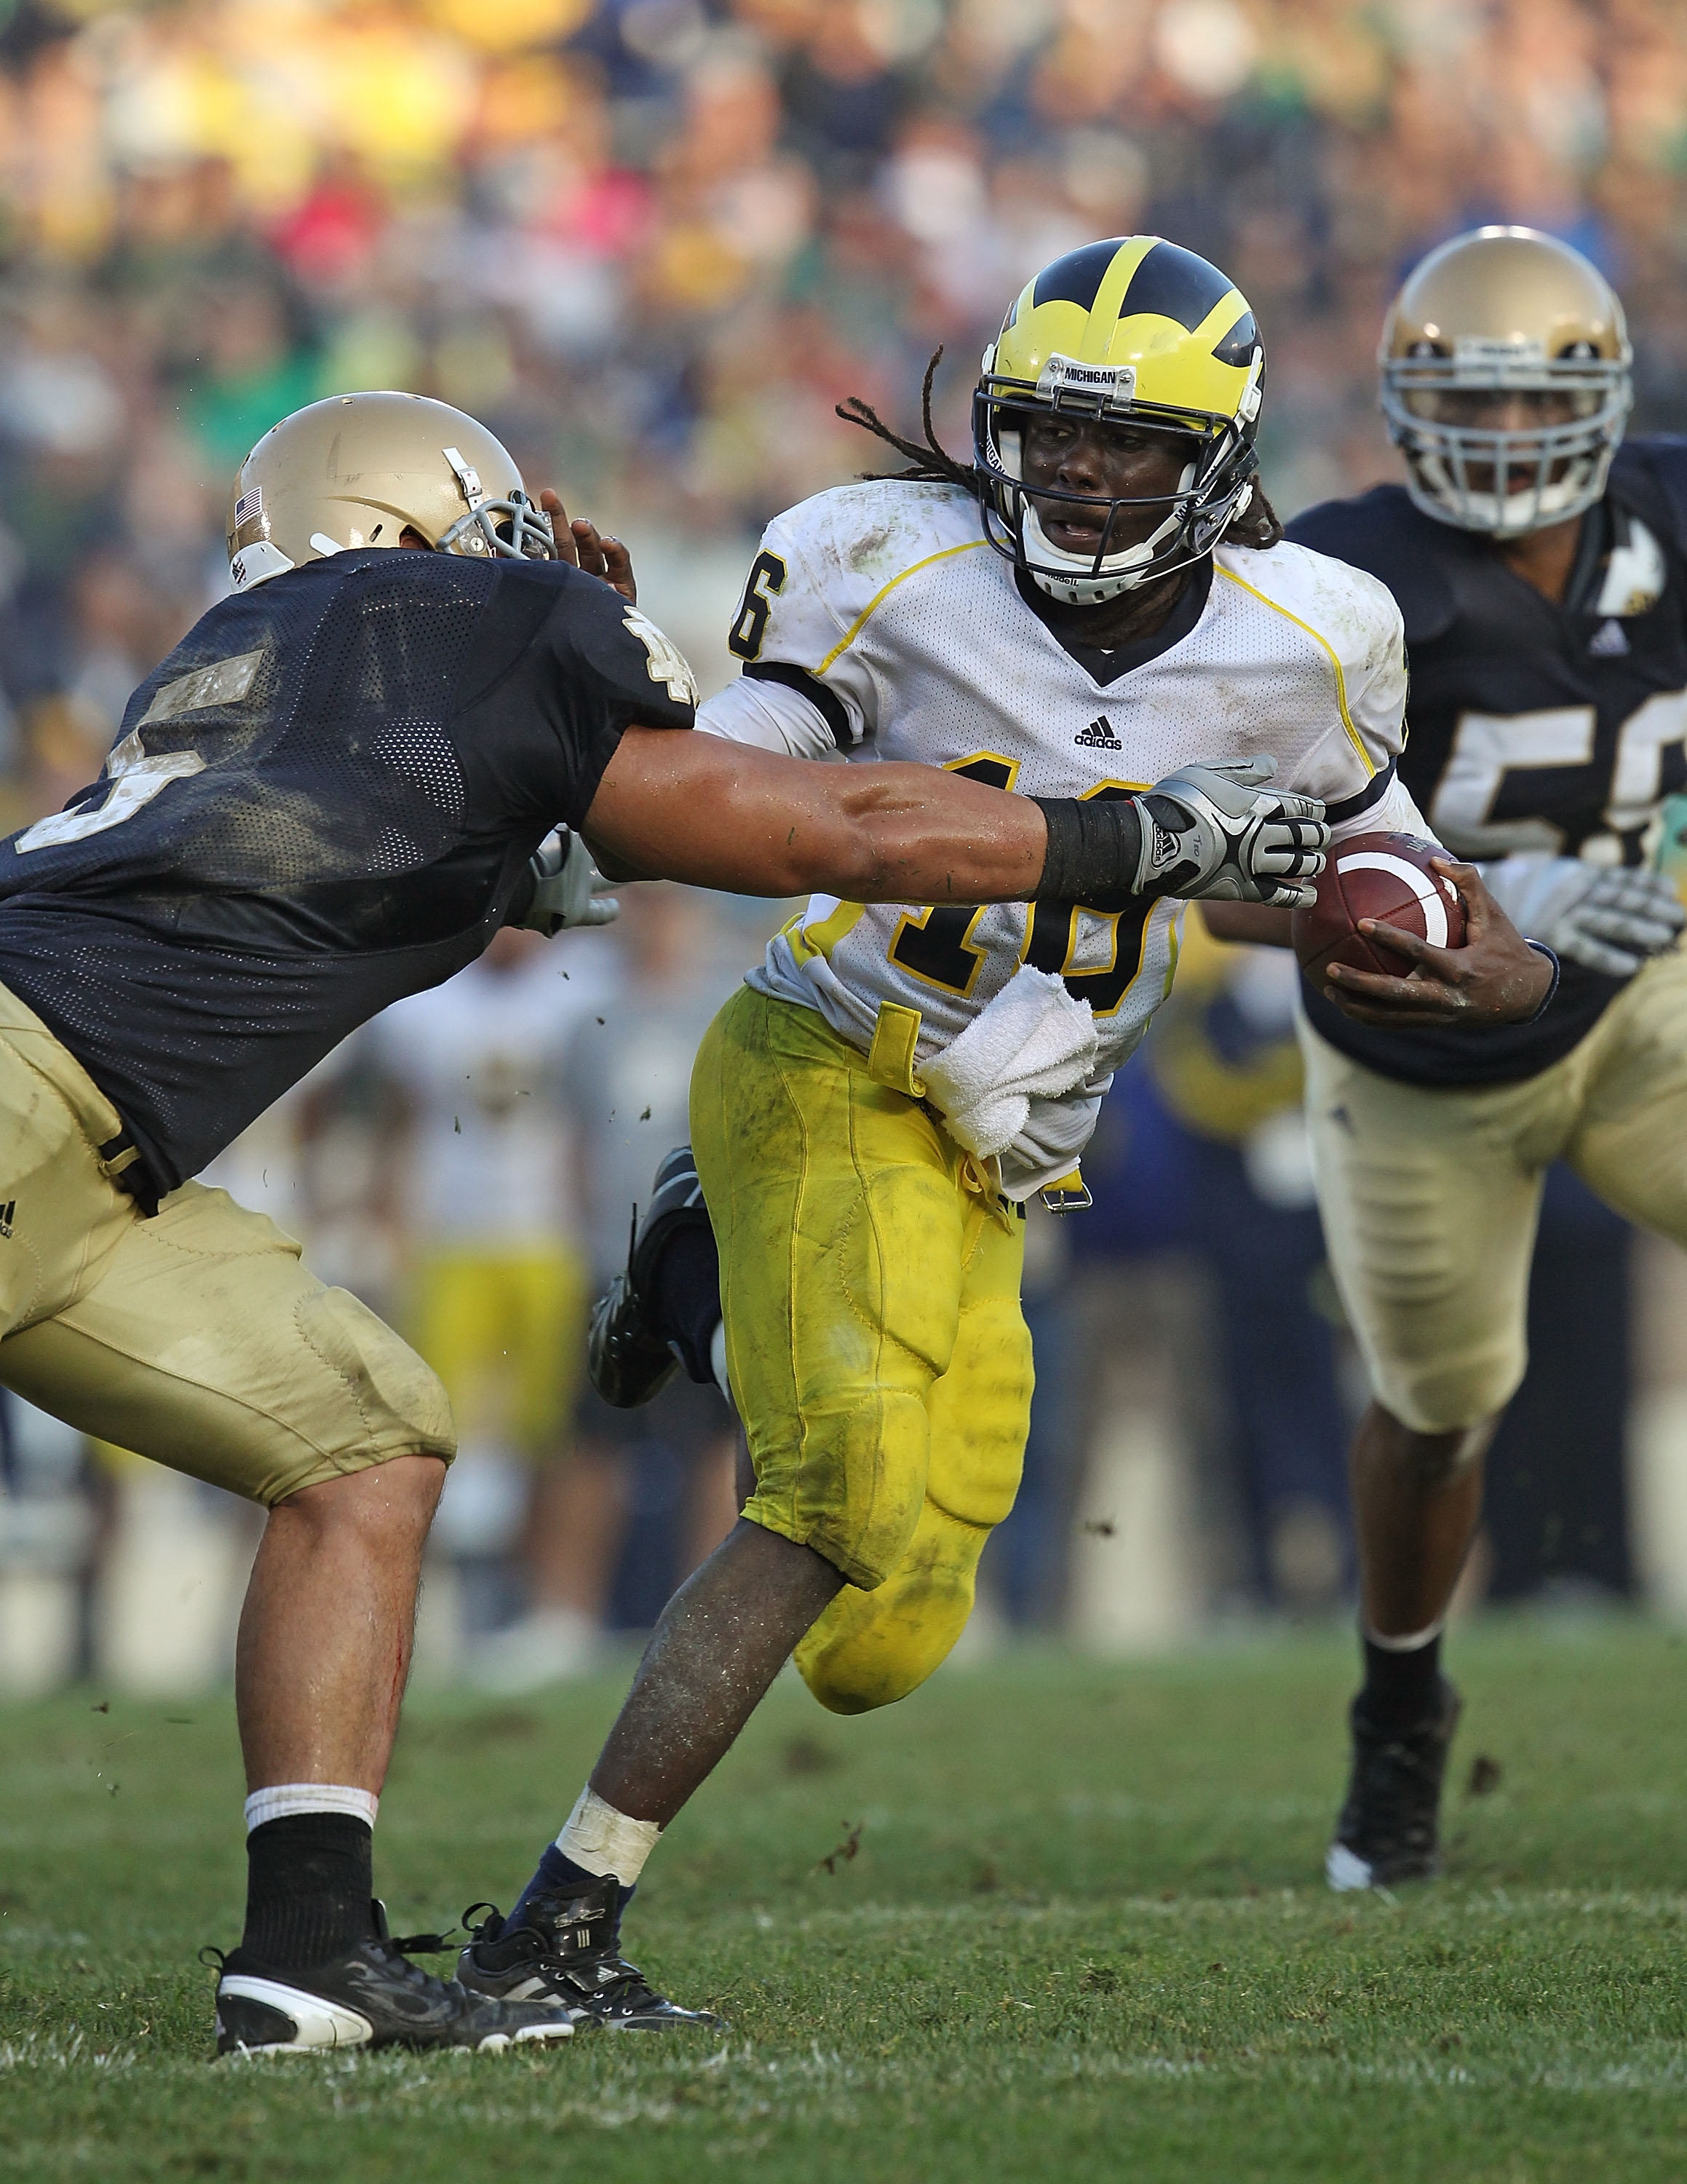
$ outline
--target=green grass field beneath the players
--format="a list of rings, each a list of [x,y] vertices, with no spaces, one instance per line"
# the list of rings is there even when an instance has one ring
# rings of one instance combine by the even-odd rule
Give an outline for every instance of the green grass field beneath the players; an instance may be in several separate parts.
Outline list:
[[[0,1710],[0,2173],[1678,2180],[1687,1649],[1491,1625],[1458,1673],[1451,1872],[1397,1900],[1318,1883],[1333,1638],[1017,1655],[866,1721],[786,1679],[629,1922],[731,2033],[539,2060],[214,2066],[194,1950],[238,1937],[229,1706]],[[412,1704],[378,1835],[395,1931],[511,1900],[618,1695]],[[1499,1780],[1471,1795],[1477,1756]]]

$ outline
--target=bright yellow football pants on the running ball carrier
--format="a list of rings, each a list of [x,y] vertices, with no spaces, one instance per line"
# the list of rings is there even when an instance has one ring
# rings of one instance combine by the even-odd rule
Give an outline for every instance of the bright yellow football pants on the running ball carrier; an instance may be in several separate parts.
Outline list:
[[[797,1649],[838,1714],[949,1653],[1030,1424],[1024,1221],[810,1009],[740,987],[692,1072],[744,1516],[849,1579]]]

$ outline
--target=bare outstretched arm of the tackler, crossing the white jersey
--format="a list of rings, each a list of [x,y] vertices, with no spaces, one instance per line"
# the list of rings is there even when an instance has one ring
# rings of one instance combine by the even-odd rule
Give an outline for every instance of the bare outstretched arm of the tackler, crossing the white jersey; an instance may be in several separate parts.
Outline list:
[[[1026,902],[1048,821],[941,767],[816,767],[720,736],[631,727],[585,834],[615,867],[735,895]]]

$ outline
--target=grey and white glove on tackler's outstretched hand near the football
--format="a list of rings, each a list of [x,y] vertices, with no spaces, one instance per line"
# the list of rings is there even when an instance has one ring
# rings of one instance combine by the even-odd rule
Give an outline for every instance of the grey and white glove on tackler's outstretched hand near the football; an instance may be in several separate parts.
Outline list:
[[[1316,797],[1264,788],[1277,760],[1178,767],[1139,797],[1139,895],[1272,902],[1307,909],[1325,869],[1329,828]]]

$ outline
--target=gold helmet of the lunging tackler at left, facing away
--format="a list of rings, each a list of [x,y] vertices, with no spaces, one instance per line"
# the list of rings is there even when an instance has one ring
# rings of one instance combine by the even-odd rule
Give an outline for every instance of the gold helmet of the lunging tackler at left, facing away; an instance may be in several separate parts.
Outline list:
[[[258,441],[234,480],[236,592],[354,546],[415,531],[439,553],[550,561],[550,518],[509,450],[428,395],[330,395]]]

